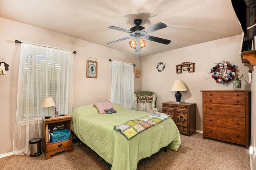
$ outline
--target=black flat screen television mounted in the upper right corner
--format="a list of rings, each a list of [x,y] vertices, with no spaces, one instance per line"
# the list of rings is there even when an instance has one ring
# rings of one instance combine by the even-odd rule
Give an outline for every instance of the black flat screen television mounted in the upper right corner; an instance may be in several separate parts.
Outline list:
[[[256,35],[256,0],[231,0],[247,40]]]

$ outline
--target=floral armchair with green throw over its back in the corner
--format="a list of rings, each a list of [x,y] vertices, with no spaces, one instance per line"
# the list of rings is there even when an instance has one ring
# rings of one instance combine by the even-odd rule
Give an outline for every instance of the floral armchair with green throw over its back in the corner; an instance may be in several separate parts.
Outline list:
[[[144,111],[148,113],[159,112],[159,108],[156,107],[156,95],[154,94],[154,92],[136,91],[134,94],[134,110]]]

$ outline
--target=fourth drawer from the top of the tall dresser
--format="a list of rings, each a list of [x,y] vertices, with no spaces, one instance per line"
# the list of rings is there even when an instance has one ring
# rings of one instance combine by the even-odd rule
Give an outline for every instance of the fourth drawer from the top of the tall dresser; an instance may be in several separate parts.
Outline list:
[[[206,125],[245,130],[245,119],[241,117],[205,114],[204,123]]]

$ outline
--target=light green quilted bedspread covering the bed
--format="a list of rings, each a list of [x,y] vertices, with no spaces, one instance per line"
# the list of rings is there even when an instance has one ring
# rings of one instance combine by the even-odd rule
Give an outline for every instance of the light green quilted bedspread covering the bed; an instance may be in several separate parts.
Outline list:
[[[140,159],[151,156],[169,144],[170,149],[178,150],[180,134],[172,119],[127,140],[114,130],[114,125],[150,113],[113,105],[117,113],[100,115],[92,104],[78,107],[72,113],[72,131],[106,162],[112,164],[112,170],[136,170]]]

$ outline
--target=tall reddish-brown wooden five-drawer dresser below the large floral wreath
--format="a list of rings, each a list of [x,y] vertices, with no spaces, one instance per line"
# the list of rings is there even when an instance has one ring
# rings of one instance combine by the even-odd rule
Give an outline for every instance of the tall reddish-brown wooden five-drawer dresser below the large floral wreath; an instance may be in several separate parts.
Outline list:
[[[203,92],[203,139],[205,137],[245,145],[250,143],[251,91]]]

